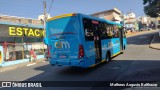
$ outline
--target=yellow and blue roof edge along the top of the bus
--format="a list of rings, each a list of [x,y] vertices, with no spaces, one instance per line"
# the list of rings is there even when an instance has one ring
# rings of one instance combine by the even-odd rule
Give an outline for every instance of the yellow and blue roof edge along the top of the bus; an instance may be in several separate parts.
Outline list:
[[[59,15],[59,16],[55,16],[55,17],[49,18],[47,21],[51,21],[51,20],[55,20],[55,19],[63,18],[63,17],[75,16],[75,15],[81,15],[82,17],[90,18],[90,19],[93,19],[93,20],[107,22],[108,24],[112,24],[112,25],[122,26],[122,24],[119,24],[119,23],[116,23],[116,22],[113,22],[113,21],[110,21],[110,20],[106,20],[106,19],[102,19],[102,18],[90,16],[90,15],[85,15],[85,14],[81,14],[81,13],[63,14],[63,15]]]

